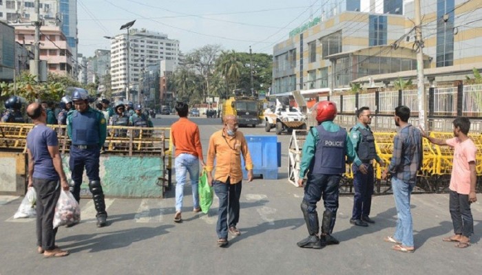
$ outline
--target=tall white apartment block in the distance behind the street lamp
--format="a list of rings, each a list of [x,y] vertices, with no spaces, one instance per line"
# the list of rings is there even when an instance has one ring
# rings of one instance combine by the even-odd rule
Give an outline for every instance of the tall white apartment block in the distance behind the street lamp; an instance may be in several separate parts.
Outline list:
[[[131,29],[129,46],[127,51],[127,34],[118,34],[111,39],[110,74],[112,92],[116,98],[131,97],[126,94],[127,83],[131,86],[130,88],[134,87],[138,83],[143,68],[148,65],[157,64],[160,60],[174,61],[176,64],[179,62],[179,41],[168,39],[167,34],[145,29]],[[127,64],[129,64],[129,72],[127,72]]]

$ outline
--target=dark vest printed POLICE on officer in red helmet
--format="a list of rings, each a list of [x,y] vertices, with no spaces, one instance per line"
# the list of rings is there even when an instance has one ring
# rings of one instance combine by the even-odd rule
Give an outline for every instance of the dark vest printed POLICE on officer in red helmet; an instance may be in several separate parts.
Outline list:
[[[324,175],[345,173],[346,130],[340,127],[336,132],[328,132],[322,125],[316,126],[316,129],[319,141],[316,144],[312,173]]]

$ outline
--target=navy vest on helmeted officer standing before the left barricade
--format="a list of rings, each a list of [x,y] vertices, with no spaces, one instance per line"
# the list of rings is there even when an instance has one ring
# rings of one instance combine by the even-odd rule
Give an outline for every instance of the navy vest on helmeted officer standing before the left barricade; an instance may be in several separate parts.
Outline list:
[[[70,126],[72,127],[72,144],[94,145],[100,142],[99,138],[99,113],[96,111],[77,110],[71,114]]]

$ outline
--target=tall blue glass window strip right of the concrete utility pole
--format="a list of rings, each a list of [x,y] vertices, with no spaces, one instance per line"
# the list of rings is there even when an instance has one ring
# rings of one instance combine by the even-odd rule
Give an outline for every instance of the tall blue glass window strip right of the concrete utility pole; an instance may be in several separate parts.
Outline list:
[[[437,67],[454,64],[454,0],[437,0]]]

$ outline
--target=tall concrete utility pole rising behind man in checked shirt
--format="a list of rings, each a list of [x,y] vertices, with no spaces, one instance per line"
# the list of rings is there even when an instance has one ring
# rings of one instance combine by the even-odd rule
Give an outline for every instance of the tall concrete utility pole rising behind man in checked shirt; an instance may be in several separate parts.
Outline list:
[[[420,0],[415,0],[415,44],[417,44],[417,87],[419,97],[419,124],[424,131],[428,131],[427,124],[427,95],[425,91],[425,76],[423,76],[423,39],[421,35]]]

